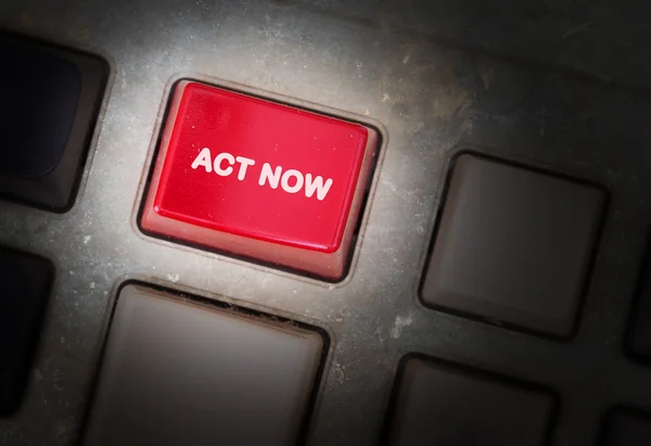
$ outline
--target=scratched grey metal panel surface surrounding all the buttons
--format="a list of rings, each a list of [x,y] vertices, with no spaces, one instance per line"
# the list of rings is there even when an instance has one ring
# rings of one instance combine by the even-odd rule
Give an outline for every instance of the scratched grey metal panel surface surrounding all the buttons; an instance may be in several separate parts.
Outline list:
[[[0,420],[0,444],[75,444],[106,309],[131,278],[329,330],[309,445],[376,444],[396,366],[408,352],[552,386],[561,395],[553,445],[593,445],[613,404],[650,408],[649,369],[622,353],[651,220],[648,14],[626,2],[524,3],[1,2],[1,30],[99,52],[112,77],[73,209],[54,215],[0,204],[0,243],[58,266],[26,399],[17,416]],[[141,181],[167,88],[180,73],[368,115],[386,129],[347,280],[328,285],[139,233]],[[459,144],[610,189],[570,342],[418,303],[443,174]]]

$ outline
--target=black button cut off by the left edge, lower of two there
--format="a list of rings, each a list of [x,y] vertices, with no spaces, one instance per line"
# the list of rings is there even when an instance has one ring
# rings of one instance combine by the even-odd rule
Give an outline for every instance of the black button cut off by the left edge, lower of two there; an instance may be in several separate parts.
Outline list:
[[[23,398],[53,277],[50,260],[0,249],[0,416]]]

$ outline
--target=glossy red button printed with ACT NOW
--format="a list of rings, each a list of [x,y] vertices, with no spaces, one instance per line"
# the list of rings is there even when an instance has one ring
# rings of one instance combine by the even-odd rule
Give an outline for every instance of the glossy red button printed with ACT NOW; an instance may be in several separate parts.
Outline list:
[[[359,124],[181,81],[141,226],[339,279],[376,143]]]

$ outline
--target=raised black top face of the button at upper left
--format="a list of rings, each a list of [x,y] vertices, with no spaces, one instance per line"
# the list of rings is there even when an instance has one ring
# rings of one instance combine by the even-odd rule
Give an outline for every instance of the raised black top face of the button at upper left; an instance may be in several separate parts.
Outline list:
[[[38,177],[51,171],[73,128],[81,74],[75,64],[37,48],[0,41],[7,88],[0,123],[0,175]]]

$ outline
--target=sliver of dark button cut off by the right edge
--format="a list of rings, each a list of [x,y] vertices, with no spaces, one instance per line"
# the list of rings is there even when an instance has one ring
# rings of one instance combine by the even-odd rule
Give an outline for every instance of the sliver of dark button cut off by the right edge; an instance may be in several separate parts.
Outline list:
[[[651,238],[647,243],[636,294],[627,348],[638,359],[651,361]]]

